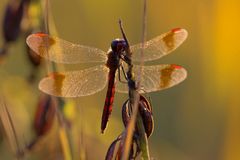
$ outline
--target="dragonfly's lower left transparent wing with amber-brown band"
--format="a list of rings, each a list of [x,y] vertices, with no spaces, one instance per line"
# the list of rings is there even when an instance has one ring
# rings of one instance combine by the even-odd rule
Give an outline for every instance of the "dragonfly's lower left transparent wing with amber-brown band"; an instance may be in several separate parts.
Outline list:
[[[39,89],[58,97],[82,97],[101,91],[107,83],[108,68],[104,65],[92,68],[51,73],[39,83]]]

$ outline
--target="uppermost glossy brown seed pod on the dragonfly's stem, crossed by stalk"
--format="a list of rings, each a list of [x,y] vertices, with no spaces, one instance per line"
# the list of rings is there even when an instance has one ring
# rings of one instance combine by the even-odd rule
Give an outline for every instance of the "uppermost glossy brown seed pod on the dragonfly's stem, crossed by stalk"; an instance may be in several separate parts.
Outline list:
[[[130,120],[131,112],[132,111],[129,105],[129,100],[127,100],[122,107],[122,120],[125,127],[127,126]],[[140,95],[140,100],[139,100],[139,112],[143,120],[145,132],[147,134],[147,137],[149,137],[152,134],[153,128],[154,128],[152,107],[148,102],[148,100],[142,95]]]

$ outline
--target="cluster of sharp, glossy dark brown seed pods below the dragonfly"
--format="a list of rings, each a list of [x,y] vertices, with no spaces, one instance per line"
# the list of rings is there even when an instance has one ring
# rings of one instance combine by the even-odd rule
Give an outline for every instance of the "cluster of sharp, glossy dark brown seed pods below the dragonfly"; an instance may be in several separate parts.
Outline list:
[[[147,100],[146,97],[143,95],[140,95],[140,100],[139,100],[139,113],[141,115],[145,133],[147,137],[150,137],[153,128],[154,128],[154,121],[153,121],[153,115],[152,115],[152,106]],[[130,121],[132,114],[132,108],[129,104],[129,100],[125,101],[123,106],[122,106],[122,121],[124,126],[126,127]],[[107,154],[105,159],[106,160],[112,160],[112,159],[121,159],[122,151],[123,151],[123,139],[122,139],[122,134],[115,139],[110,147],[108,148]],[[132,144],[131,144],[131,149],[129,153],[129,159],[135,159],[139,153],[140,153],[140,147],[138,143],[138,137],[139,133],[137,130],[137,127],[135,128]]]

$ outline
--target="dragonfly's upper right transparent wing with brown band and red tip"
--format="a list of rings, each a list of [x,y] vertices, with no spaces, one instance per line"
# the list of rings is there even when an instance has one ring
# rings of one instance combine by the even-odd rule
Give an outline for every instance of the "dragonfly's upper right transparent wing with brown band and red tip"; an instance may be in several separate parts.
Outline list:
[[[152,61],[165,56],[178,48],[187,38],[185,29],[176,28],[145,43],[144,61]],[[131,46],[133,61],[140,61],[142,44]]]

